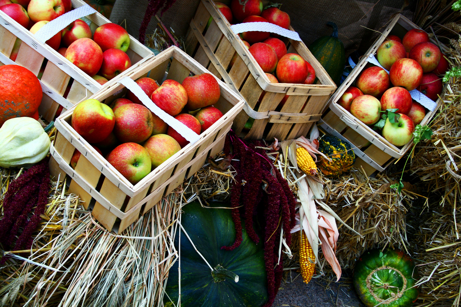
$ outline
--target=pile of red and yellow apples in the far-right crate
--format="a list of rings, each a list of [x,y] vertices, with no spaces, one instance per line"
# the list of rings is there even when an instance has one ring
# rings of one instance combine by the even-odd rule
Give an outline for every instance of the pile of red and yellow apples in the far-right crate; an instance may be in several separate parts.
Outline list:
[[[417,89],[436,101],[443,90],[439,75],[449,70],[449,63],[420,29],[409,30],[402,40],[389,35],[376,57],[389,73],[370,64],[338,104],[366,125],[382,129],[383,137],[391,144],[403,146],[426,115],[426,109],[412,99],[409,91]]]

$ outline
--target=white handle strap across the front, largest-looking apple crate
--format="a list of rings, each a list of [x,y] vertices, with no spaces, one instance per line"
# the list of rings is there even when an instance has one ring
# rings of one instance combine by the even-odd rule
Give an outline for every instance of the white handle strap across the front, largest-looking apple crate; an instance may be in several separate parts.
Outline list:
[[[191,144],[197,142],[200,139],[200,136],[192,131],[189,127],[184,125],[182,122],[179,122],[173,116],[167,114],[164,110],[160,109],[152,100],[144,93],[144,91],[137,85],[137,83],[131,80],[129,77],[124,77],[118,83],[123,84],[128,88],[133,94],[136,95],[142,103],[154,112],[155,115],[159,116],[164,122],[166,122],[170,127],[175,129],[177,133],[181,134],[184,139],[187,139]]]

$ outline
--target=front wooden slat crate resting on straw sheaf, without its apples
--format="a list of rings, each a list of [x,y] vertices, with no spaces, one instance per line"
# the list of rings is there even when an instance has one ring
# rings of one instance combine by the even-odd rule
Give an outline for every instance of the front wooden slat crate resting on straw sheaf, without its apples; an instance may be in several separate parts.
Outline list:
[[[172,46],[131,71],[128,76],[136,80],[147,76],[150,71],[149,77],[161,83],[167,70],[167,79],[178,82],[182,82],[190,72],[195,75],[207,72],[193,58]],[[244,102],[225,83],[219,81],[219,86],[221,98],[214,106],[224,116],[201,133],[199,141],[185,146],[136,185],[130,184],[71,127],[74,108],[56,119],[58,134],[50,149],[54,158],[50,162],[51,173],[54,176],[59,173],[65,175],[62,171],[69,174],[72,179],[69,191],[80,195],[85,202],[85,209],[89,208],[94,199],[93,216],[108,230],[122,232],[139,218],[139,214],[147,212],[161,197],[177,188],[185,178],[195,174],[208,156],[214,156],[223,149],[225,135],[231,128],[233,119],[242,110]],[[115,82],[91,98],[110,104],[124,93],[126,88]],[[74,170],[69,163],[76,148],[82,155]],[[62,175],[61,178],[64,178]]]

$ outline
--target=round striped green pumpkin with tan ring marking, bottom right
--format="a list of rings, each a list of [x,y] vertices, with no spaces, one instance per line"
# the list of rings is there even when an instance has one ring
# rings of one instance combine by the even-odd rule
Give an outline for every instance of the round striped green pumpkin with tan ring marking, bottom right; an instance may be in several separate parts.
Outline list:
[[[355,264],[352,277],[362,302],[372,307],[410,307],[418,298],[417,273],[413,261],[400,250],[373,249],[365,252]]]

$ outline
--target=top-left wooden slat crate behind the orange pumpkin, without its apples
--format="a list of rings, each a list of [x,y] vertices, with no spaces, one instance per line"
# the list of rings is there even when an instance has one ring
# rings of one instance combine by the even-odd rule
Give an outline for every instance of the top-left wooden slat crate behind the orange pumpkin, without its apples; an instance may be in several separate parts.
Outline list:
[[[82,0],[72,0],[74,8],[85,4]],[[92,28],[110,22],[100,13],[94,13],[87,17],[92,21]],[[19,38],[22,43],[19,48],[18,57],[13,62],[10,59],[10,55],[16,38]],[[135,70],[140,64],[154,56],[153,52],[132,36],[130,36],[130,48],[126,53],[133,65],[124,73]],[[68,109],[73,104],[88,98],[103,87],[57,51],[37,41],[29,30],[1,11],[0,64],[18,64],[32,71],[35,75],[38,75],[42,65],[45,66],[41,77],[42,87],[43,85],[45,87],[43,87],[44,95],[39,108],[39,114],[48,122],[53,120],[59,104]],[[122,77],[122,74],[109,82],[115,81],[119,77]],[[66,100],[62,96],[68,86],[70,87],[70,91]]]

